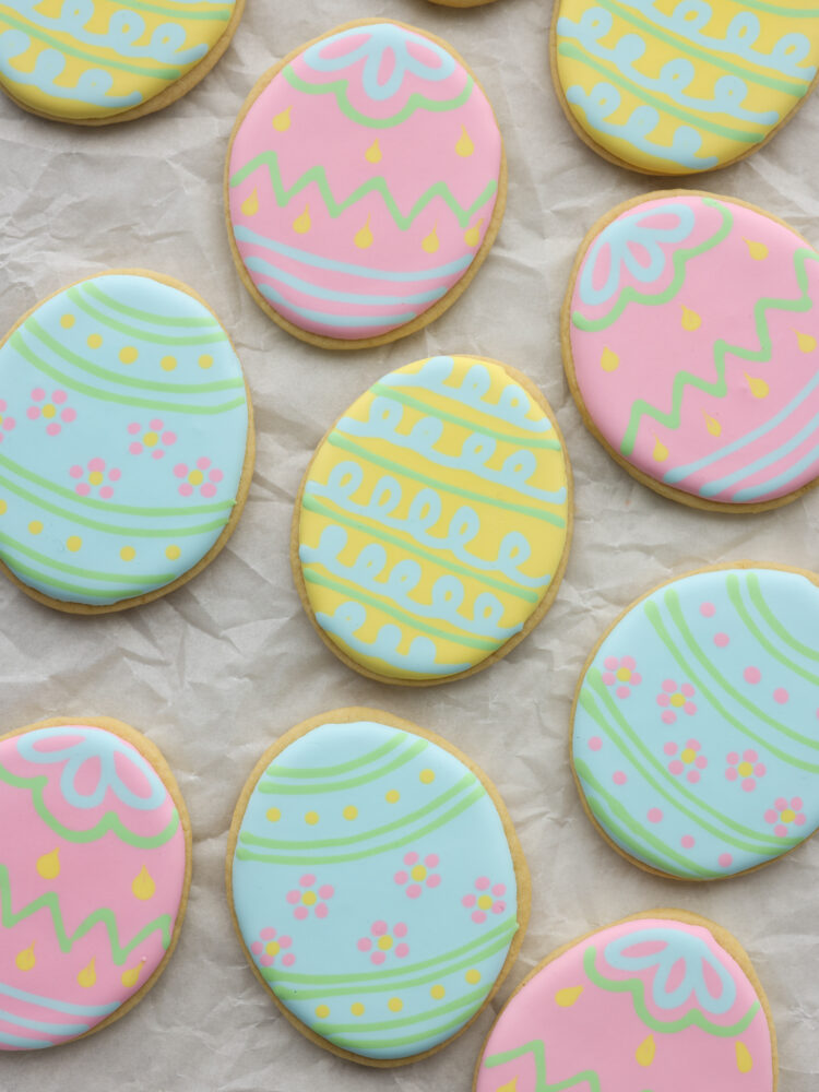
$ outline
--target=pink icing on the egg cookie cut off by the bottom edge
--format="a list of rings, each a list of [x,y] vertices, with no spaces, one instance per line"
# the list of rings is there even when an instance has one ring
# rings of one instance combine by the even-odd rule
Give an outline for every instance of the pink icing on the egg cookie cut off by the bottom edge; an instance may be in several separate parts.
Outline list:
[[[710,929],[610,925],[543,965],[500,1013],[476,1092],[773,1092],[760,997]]]

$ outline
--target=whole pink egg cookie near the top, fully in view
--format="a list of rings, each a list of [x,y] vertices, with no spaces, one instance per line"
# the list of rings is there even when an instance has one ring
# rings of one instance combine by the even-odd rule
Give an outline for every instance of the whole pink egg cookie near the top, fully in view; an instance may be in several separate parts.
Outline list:
[[[364,21],[297,49],[251,92],[226,201],[246,285],[329,348],[403,337],[460,296],[506,202],[484,92],[432,35]]]

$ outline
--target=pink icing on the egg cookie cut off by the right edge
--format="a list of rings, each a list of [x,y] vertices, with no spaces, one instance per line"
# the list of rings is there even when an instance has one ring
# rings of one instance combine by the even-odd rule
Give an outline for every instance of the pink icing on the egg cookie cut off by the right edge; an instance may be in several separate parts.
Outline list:
[[[581,399],[615,453],[723,505],[819,475],[819,256],[764,213],[657,195],[589,247],[571,298]]]

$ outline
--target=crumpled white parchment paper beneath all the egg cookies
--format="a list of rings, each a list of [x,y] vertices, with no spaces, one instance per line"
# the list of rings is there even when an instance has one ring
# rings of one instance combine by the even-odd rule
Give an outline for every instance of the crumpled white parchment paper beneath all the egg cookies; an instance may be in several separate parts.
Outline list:
[[[194,832],[188,916],[154,990],[84,1042],[0,1055],[4,1092],[468,1092],[483,1038],[523,975],[558,945],[654,906],[700,912],[737,936],[771,1001],[781,1092],[815,1092],[819,843],[722,883],[655,879],[606,847],[569,772],[571,698],[603,629],[655,583],[699,566],[750,557],[818,568],[819,491],[762,515],[695,512],[633,482],[583,427],[558,336],[571,262],[598,216],[656,187],[605,163],[570,130],[549,79],[550,14],[544,0],[472,10],[426,0],[248,0],[226,56],[161,114],[79,129],[0,99],[2,331],[86,274],[143,266],[179,277],[234,339],[259,430],[236,534],[176,594],[80,618],[0,580],[0,732],[57,714],[133,724],[174,768]],[[393,345],[332,354],[289,337],[242,287],[223,223],[222,171],[258,76],[302,41],[372,16],[441,35],[475,69],[506,138],[509,203],[486,264],[438,322]],[[753,157],[684,185],[752,201],[819,244],[818,146],[815,98]],[[288,565],[293,501],[324,429],[357,394],[403,364],[453,352],[507,360],[551,402],[574,468],[572,555],[550,613],[501,663],[430,690],[385,687],[336,661],[305,617]],[[253,763],[292,725],[352,704],[410,717],[471,755],[506,798],[533,876],[529,935],[491,1008],[450,1047],[396,1070],[344,1063],[294,1031],[246,965],[225,902],[227,828]]]

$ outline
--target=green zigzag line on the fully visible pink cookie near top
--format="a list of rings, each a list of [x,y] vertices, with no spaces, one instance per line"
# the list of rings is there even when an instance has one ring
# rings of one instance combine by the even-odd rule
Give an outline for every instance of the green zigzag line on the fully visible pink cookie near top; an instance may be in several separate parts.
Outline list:
[[[248,175],[251,175],[258,167],[261,166],[266,166],[268,168],[270,181],[273,187],[273,193],[275,194],[276,204],[280,209],[284,209],[285,205],[289,204],[293,198],[297,197],[302,190],[307,189],[311,182],[316,182],[319,187],[322,200],[324,201],[327,210],[333,219],[336,219],[342,215],[342,213],[346,212],[347,209],[356,204],[363,198],[366,198],[369,193],[380,193],[384,199],[388,212],[402,232],[406,232],[410,227],[412,227],[415,219],[436,198],[443,198],[461,227],[468,227],[470,221],[474,214],[478,211],[478,209],[482,209],[486,204],[489,198],[498,189],[497,179],[492,179],[490,182],[487,182],[478,199],[474,201],[468,209],[464,209],[446,182],[436,182],[418,198],[410,210],[408,215],[405,216],[395,203],[395,199],[392,193],[390,193],[387,180],[380,175],[378,178],[368,179],[364,182],[364,185],[353,190],[348,198],[345,198],[341,202],[336,201],[333,197],[330,183],[328,182],[327,170],[320,165],[310,167],[310,169],[306,170],[305,174],[301,175],[301,177],[294,182],[289,189],[286,189],[284,182],[282,181],[282,174],[278,169],[278,156],[272,151],[261,152],[259,155],[254,155],[249,163],[246,163],[244,167],[240,167],[236,171],[230,179],[230,186],[239,186],[245,181]]]

